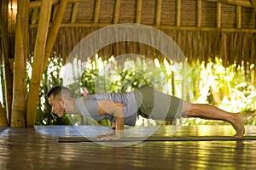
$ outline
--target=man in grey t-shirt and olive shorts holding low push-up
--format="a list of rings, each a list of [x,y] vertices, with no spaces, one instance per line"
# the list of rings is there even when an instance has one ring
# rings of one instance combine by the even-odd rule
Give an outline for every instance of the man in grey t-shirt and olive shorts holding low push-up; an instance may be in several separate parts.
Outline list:
[[[235,138],[241,138],[245,131],[241,113],[230,113],[213,105],[190,104],[150,87],[131,93],[91,94],[77,99],[68,88],[55,87],[49,91],[48,99],[52,111],[59,117],[78,113],[97,121],[109,119],[113,122],[115,133],[97,136],[99,140],[120,139],[124,125],[134,126],[137,115],[162,121],[180,117],[222,120],[234,127]]]

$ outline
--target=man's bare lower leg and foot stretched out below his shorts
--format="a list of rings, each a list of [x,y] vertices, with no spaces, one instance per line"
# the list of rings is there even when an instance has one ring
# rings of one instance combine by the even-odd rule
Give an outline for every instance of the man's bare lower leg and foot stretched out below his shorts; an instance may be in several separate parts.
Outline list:
[[[230,122],[236,130],[234,135],[236,138],[241,138],[245,131],[241,113],[230,113],[213,105],[183,102],[182,114],[184,117],[199,117],[208,120]]]

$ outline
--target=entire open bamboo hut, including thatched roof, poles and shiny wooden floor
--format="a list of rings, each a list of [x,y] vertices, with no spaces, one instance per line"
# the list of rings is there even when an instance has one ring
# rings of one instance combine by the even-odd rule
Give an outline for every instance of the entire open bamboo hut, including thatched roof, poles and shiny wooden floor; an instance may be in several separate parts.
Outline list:
[[[255,126],[246,127],[248,138],[243,139],[230,137],[233,128],[226,126],[181,127],[172,138],[165,126],[154,135],[177,141],[127,147],[118,147],[119,141],[61,143],[58,137],[81,135],[75,126],[34,126],[48,59],[53,54],[67,59],[90,33],[123,23],[165,32],[189,62],[218,56],[224,65],[256,64],[256,0],[1,0],[6,108],[0,104],[0,169],[255,169]],[[159,51],[137,42],[116,42],[96,53],[106,58],[131,53],[158,57]],[[26,93],[26,61],[31,56]]]

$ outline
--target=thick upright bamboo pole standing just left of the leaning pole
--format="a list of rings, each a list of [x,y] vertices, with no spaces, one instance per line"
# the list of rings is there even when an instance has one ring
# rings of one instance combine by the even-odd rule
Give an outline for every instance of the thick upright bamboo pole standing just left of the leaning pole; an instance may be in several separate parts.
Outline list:
[[[18,14],[15,34],[14,94],[12,103],[11,127],[25,127],[26,112],[26,56],[25,39],[28,26],[28,0],[18,0]],[[24,35],[25,34],[25,35]]]

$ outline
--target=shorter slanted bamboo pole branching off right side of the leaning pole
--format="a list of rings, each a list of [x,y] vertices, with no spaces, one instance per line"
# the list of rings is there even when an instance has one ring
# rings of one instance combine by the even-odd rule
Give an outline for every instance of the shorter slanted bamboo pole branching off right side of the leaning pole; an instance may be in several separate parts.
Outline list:
[[[68,2],[68,0],[61,0],[58,11],[56,12],[55,20],[53,21],[53,24],[52,24],[52,26],[49,30],[49,35],[48,35],[48,38],[47,38],[45,54],[44,54],[43,71],[45,70],[45,68],[48,64],[48,59],[49,59],[49,56],[51,54],[52,48],[54,46],[55,38],[57,37],[57,33],[58,33],[58,31],[60,29],[60,26],[61,26],[61,21],[63,19],[64,14],[65,14],[65,10],[66,10],[66,7],[67,7],[67,2]]]

